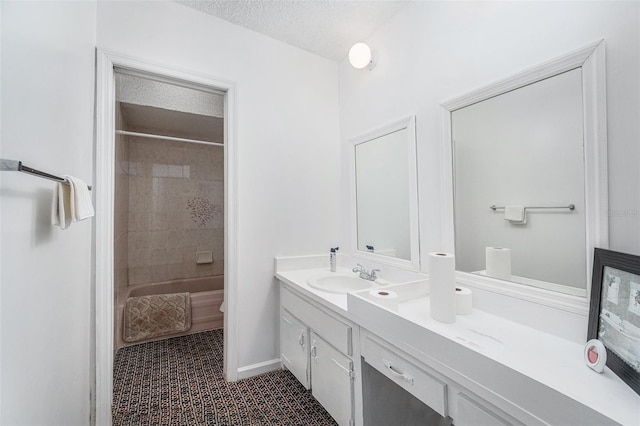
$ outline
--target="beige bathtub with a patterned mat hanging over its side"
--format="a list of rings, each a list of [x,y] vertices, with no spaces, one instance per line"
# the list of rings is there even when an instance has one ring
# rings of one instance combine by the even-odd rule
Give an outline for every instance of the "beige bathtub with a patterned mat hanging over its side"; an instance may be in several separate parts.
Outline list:
[[[183,292],[191,293],[191,328],[189,331],[145,341],[184,336],[223,326],[224,314],[220,312],[220,305],[224,299],[224,275],[132,285],[123,291],[118,298],[115,319],[115,349],[141,343],[127,343],[122,340],[124,305],[129,297]]]

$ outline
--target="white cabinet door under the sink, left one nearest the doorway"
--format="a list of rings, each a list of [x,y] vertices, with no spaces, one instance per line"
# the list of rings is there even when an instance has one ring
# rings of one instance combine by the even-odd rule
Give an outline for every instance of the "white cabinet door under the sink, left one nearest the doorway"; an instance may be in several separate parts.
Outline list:
[[[309,381],[309,329],[286,310],[280,310],[280,358],[306,389]]]

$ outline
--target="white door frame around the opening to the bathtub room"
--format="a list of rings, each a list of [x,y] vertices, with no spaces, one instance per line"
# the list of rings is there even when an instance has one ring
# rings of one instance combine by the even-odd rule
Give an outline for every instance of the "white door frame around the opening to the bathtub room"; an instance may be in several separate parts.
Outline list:
[[[95,154],[95,424],[111,424],[114,359],[114,192],[115,76],[114,68],[207,86],[225,94],[224,108],[224,375],[238,380],[237,309],[237,140],[235,84],[165,65],[153,64],[102,49],[96,50]]]

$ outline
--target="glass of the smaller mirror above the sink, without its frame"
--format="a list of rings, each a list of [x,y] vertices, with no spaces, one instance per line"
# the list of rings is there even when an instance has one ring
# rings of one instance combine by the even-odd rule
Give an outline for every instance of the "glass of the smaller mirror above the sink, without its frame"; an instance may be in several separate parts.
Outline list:
[[[411,260],[407,129],[355,146],[358,250]]]

